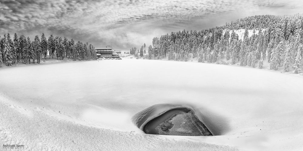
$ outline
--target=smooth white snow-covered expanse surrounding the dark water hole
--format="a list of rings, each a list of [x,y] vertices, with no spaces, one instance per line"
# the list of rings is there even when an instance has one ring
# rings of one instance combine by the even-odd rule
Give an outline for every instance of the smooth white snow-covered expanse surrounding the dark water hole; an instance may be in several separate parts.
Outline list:
[[[301,150],[303,79],[266,70],[147,59],[0,69],[1,144],[26,150]],[[203,114],[217,136],[144,134],[155,104]]]

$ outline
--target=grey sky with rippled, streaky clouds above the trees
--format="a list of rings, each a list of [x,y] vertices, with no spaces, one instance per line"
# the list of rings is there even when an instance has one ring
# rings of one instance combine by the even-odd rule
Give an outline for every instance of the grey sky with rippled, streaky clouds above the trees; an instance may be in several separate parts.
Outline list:
[[[73,38],[129,50],[171,31],[259,14],[302,13],[301,0],[0,0],[0,34]]]

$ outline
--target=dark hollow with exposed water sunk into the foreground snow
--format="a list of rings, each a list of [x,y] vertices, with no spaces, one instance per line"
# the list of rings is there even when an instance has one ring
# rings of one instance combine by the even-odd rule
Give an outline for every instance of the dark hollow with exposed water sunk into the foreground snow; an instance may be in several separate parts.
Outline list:
[[[212,136],[200,119],[187,105],[156,104],[135,114],[133,122],[147,134]]]

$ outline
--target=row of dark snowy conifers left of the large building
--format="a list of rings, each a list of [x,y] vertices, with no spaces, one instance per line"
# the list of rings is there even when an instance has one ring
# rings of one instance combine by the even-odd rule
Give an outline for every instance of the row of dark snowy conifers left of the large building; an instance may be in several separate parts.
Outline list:
[[[54,37],[52,34],[46,39],[42,33],[41,39],[38,35],[34,40],[29,37],[15,33],[13,39],[9,33],[0,36],[0,67],[2,64],[12,66],[16,63],[40,63],[41,59],[46,60],[47,56],[55,59],[72,59],[72,60],[91,60],[97,59],[95,47],[89,43],[67,38]]]

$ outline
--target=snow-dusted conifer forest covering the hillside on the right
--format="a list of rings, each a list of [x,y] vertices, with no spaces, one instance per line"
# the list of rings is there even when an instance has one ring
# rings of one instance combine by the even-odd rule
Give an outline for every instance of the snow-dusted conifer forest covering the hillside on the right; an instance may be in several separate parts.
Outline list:
[[[263,68],[303,69],[303,16],[258,15],[202,31],[178,31],[152,39],[149,59],[166,58]],[[132,48],[131,54],[135,54]]]

